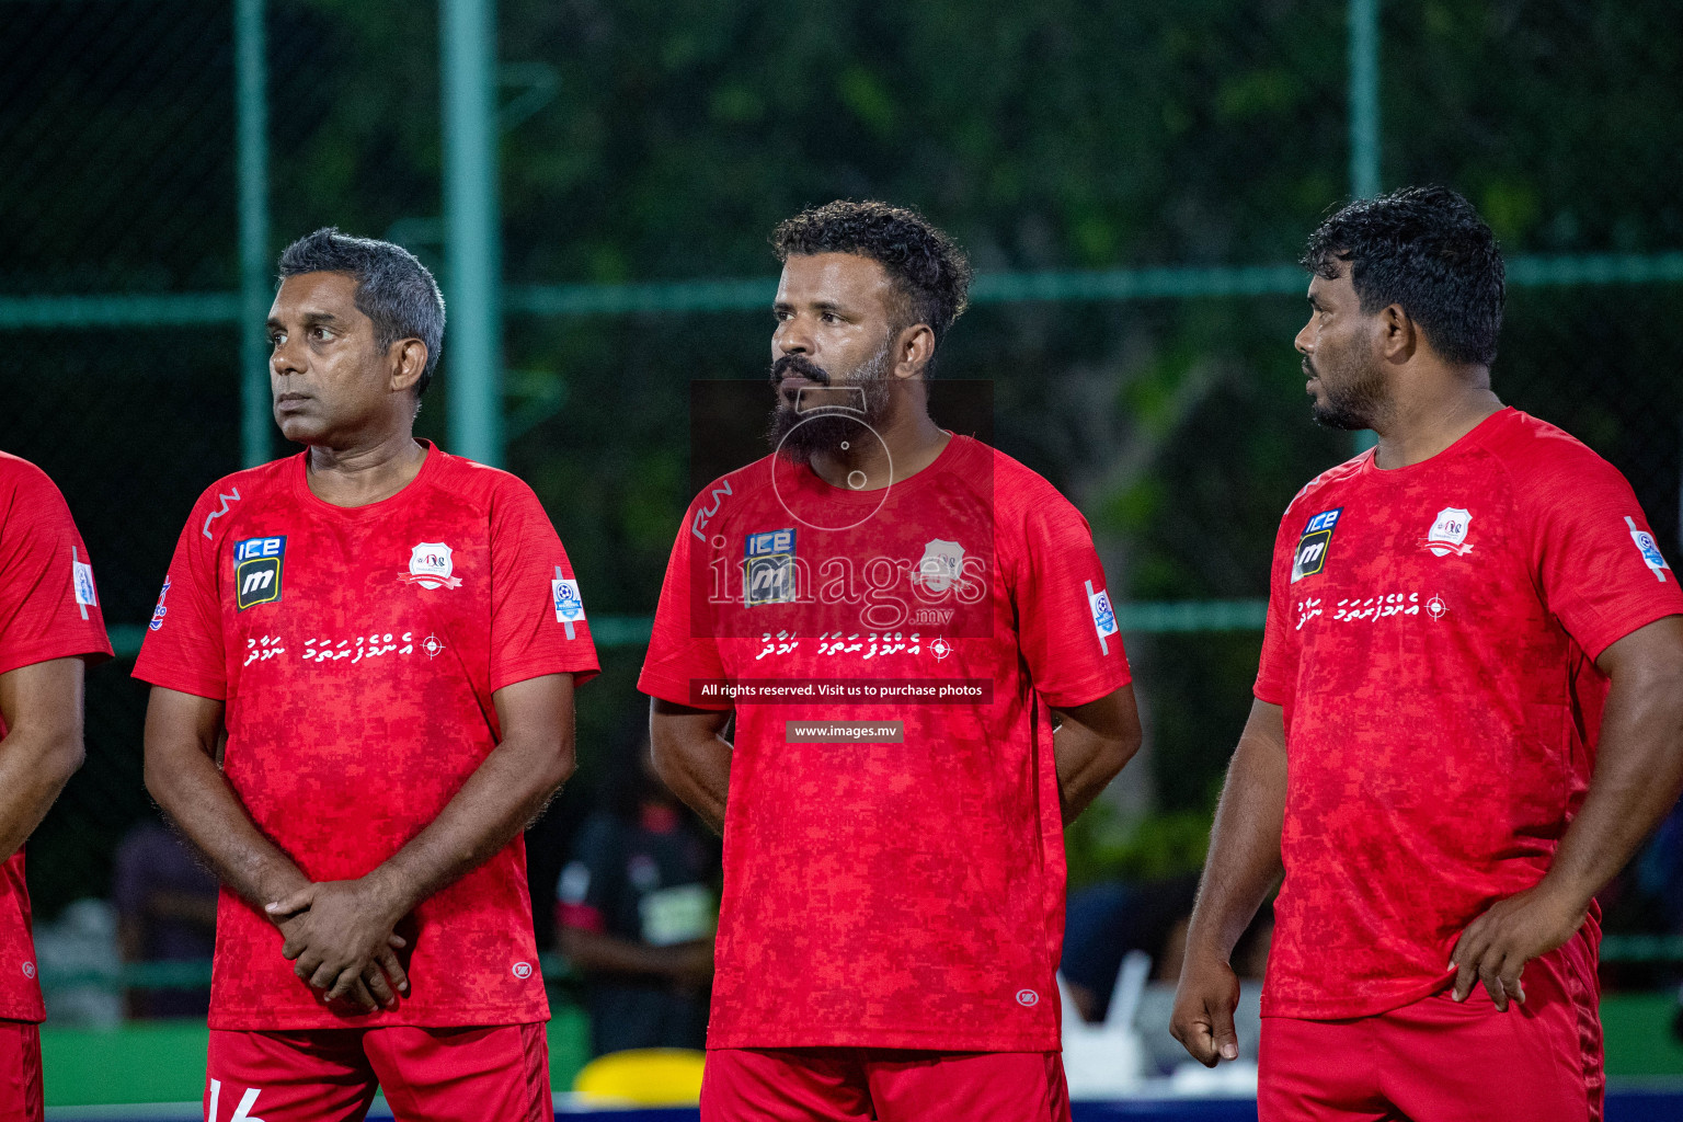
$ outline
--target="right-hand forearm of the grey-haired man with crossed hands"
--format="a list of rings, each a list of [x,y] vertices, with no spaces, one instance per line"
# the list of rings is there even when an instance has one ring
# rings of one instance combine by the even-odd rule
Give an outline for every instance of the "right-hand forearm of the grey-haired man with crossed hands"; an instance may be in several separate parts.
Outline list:
[[[571,723],[571,722],[569,722]],[[392,917],[485,865],[525,829],[574,772],[572,744],[498,744],[431,824],[365,878]]]

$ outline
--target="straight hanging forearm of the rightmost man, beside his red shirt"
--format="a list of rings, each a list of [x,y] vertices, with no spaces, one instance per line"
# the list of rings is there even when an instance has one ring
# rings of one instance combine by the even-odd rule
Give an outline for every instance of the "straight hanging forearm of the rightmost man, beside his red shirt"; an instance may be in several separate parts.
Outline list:
[[[1234,752],[1215,809],[1210,856],[1187,934],[1188,954],[1197,949],[1224,962],[1232,955],[1257,908],[1279,883],[1284,814],[1284,744],[1247,730]]]

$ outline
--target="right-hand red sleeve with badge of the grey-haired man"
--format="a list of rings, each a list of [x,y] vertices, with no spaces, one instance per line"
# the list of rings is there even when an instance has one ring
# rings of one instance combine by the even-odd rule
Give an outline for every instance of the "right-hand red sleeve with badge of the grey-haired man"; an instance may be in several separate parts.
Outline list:
[[[544,505],[510,478],[491,508],[491,690],[542,675],[596,676],[572,562]]]

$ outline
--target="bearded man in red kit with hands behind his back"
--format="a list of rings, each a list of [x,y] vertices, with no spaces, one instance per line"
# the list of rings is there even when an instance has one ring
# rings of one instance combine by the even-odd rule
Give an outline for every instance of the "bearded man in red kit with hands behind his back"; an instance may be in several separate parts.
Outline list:
[[[946,234],[835,202],[772,244],[772,454],[685,513],[638,683],[724,831],[702,1119],[1067,1119],[1062,826],[1139,747],[1104,567],[929,414],[969,284]],[[867,686],[899,700],[820,695]]]

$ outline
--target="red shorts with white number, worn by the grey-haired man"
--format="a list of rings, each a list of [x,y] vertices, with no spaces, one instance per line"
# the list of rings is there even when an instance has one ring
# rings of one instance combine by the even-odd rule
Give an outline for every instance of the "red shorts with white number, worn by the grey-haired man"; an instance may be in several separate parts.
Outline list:
[[[205,1122],[554,1122],[542,1024],[210,1031]]]

